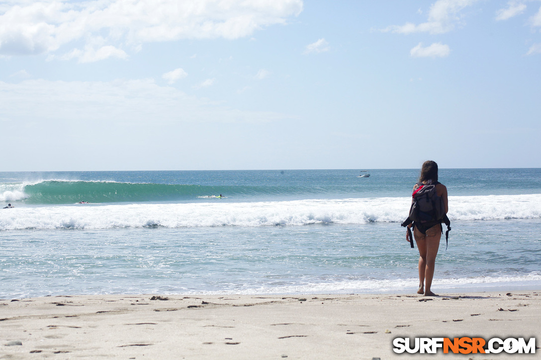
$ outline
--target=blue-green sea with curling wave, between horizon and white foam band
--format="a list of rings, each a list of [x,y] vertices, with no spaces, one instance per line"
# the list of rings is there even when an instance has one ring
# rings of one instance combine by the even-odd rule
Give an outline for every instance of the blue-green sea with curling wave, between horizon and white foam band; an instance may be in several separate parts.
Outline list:
[[[418,169],[0,172],[0,203],[28,205],[380,198],[411,194]],[[541,194],[541,169],[441,169],[451,196]],[[5,206],[5,205],[4,205]]]

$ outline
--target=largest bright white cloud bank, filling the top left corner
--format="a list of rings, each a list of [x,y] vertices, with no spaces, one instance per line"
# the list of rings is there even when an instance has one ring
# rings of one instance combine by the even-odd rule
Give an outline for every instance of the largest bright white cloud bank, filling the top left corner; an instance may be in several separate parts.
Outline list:
[[[122,57],[124,45],[193,38],[236,39],[297,16],[302,0],[90,0],[21,1],[0,4],[0,55],[64,50],[74,42],[97,50],[77,52],[82,61]],[[111,48],[109,48],[111,46]],[[67,48],[67,49],[64,49]],[[114,50],[116,49],[116,50]]]

